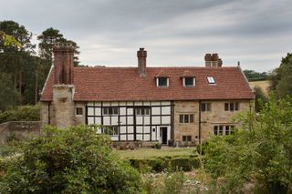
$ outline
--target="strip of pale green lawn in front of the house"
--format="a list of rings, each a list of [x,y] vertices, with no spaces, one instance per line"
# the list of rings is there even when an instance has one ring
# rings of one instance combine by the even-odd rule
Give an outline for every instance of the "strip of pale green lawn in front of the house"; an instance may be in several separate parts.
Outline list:
[[[135,150],[115,150],[120,158],[153,158],[190,156],[194,154],[194,148],[141,148]]]

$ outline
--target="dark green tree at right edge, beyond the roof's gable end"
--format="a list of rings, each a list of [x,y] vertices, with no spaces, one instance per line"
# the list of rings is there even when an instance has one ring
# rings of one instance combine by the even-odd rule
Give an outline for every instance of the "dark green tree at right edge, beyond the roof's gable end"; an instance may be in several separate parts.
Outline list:
[[[281,64],[270,76],[271,90],[276,92],[277,97],[286,97],[292,95],[292,53],[287,53],[282,58]]]

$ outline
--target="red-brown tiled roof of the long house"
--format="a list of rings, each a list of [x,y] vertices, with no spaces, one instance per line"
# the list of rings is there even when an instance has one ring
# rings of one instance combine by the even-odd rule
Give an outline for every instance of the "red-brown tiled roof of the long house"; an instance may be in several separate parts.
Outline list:
[[[54,71],[54,69],[53,69]],[[51,101],[54,74],[49,75],[41,101]],[[148,101],[198,99],[252,99],[239,67],[147,67],[140,77],[137,67],[74,67],[75,101]],[[169,87],[156,87],[160,72],[169,76]],[[184,73],[195,77],[194,87],[183,87]],[[216,83],[208,84],[207,77]]]

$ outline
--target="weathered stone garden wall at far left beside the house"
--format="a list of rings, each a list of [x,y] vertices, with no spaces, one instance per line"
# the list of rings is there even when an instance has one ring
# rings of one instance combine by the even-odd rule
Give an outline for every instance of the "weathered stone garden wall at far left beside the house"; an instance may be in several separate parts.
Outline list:
[[[40,133],[39,121],[9,121],[0,124],[0,145],[8,138],[24,139]]]

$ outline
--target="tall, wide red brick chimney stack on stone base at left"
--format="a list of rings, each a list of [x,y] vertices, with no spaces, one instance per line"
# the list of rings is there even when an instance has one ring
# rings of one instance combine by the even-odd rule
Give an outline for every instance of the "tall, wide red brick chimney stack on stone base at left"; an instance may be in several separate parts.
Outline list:
[[[53,47],[55,85],[73,84],[74,47],[69,43],[57,43]]]

